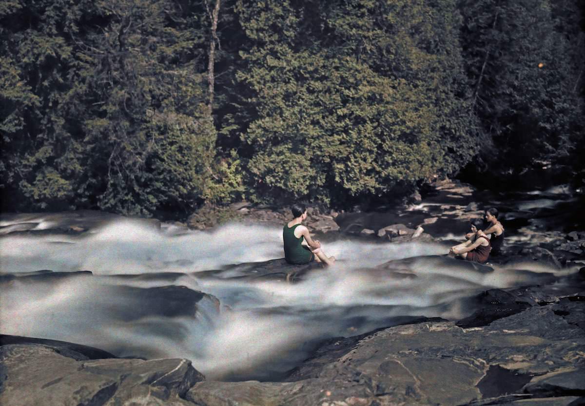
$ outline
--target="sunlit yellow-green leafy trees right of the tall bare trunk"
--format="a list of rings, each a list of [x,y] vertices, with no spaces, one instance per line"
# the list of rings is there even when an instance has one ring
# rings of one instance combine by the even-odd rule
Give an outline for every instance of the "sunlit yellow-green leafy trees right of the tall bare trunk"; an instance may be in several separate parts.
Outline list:
[[[382,195],[476,151],[453,2],[274,0],[238,12],[252,40],[236,77],[250,88],[242,139],[255,191]]]

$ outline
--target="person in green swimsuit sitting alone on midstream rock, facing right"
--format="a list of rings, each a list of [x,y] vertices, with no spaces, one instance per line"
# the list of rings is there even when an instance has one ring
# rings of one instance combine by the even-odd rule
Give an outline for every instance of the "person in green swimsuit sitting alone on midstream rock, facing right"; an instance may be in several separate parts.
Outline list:
[[[307,264],[312,260],[331,266],[335,257],[328,257],[321,249],[321,243],[311,238],[307,227],[302,221],[307,218],[307,208],[304,204],[294,204],[291,207],[294,219],[284,225],[284,258],[290,264]],[[307,242],[308,246],[303,245]]]

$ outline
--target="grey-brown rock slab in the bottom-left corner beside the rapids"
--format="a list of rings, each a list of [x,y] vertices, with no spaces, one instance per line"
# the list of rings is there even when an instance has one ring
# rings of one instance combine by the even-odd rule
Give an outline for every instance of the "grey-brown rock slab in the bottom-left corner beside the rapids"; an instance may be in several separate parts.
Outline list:
[[[3,405],[187,405],[204,379],[185,359],[78,360],[40,344],[0,347]]]

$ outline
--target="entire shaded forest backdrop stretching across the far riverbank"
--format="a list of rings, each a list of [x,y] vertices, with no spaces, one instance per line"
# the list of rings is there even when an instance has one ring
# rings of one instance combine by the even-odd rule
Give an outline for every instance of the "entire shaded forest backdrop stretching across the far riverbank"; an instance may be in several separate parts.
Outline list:
[[[580,0],[3,0],[2,209],[342,208],[542,168],[582,184],[584,16]]]

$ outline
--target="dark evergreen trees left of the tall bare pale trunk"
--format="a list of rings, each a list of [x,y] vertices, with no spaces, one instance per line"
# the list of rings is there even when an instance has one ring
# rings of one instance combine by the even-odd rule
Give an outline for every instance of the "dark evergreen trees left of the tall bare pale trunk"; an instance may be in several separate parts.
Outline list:
[[[193,11],[63,0],[2,13],[5,187],[33,208],[125,214],[208,197],[216,134]]]

